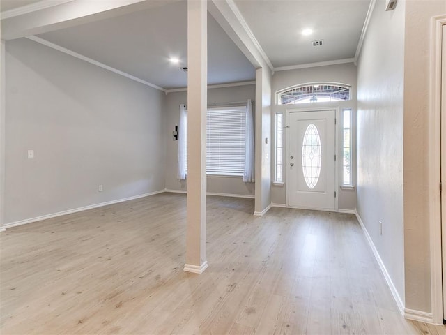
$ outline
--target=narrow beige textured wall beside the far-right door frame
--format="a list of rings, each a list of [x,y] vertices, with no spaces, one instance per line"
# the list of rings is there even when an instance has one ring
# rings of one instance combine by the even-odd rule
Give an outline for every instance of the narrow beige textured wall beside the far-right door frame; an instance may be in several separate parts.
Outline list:
[[[438,186],[429,190],[430,40],[431,17],[436,15],[446,15],[446,1],[406,1],[404,232],[401,234],[404,234],[406,308],[425,312],[431,311],[431,266],[437,266],[430,264],[429,239],[429,192],[438,192]]]

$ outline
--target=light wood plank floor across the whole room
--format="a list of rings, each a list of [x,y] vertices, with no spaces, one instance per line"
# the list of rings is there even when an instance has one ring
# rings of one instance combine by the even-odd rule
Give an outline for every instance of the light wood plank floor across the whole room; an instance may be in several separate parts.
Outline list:
[[[446,334],[404,320],[356,219],[208,197],[208,269],[183,271],[185,195],[10,228],[1,334]]]

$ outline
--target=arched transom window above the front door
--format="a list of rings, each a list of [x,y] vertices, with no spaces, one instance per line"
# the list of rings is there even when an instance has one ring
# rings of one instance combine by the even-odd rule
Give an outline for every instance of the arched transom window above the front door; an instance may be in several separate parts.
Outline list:
[[[312,82],[277,92],[277,104],[322,103],[351,99],[351,86],[346,84]]]

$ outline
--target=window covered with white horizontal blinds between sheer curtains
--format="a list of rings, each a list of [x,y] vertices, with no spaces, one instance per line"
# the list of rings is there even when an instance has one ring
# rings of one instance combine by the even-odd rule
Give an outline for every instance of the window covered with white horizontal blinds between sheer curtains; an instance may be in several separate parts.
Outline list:
[[[246,156],[246,107],[209,109],[206,141],[208,174],[242,176]]]

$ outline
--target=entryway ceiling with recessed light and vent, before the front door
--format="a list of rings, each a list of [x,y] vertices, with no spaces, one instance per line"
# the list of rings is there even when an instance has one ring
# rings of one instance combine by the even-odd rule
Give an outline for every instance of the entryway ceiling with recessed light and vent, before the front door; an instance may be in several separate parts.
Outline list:
[[[369,0],[235,0],[272,65],[355,57]],[[303,29],[313,29],[302,36]],[[312,40],[323,39],[314,47]]]

